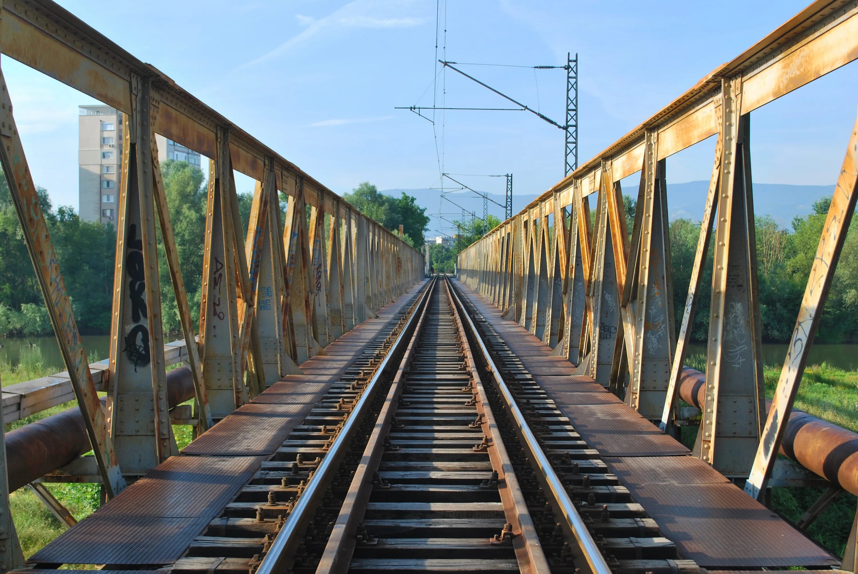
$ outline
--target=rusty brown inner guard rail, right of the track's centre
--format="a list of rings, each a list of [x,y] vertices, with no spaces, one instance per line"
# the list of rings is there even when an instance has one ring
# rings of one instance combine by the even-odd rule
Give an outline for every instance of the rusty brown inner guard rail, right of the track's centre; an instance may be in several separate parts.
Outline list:
[[[518,481],[516,471],[512,467],[504,439],[500,436],[498,422],[494,418],[492,406],[488,402],[486,388],[483,386],[480,372],[474,361],[474,352],[471,350],[471,345],[468,342],[468,335],[465,332],[465,326],[462,324],[462,317],[459,317],[459,314],[456,312],[456,304],[453,301],[453,290],[450,288],[450,282],[444,281],[444,287],[446,288],[447,298],[450,300],[453,317],[456,319],[456,327],[462,336],[462,347],[465,351],[465,357],[468,360],[468,366],[471,369],[471,383],[479,397],[476,403],[477,412],[480,413],[480,418],[483,419],[483,432],[489,441],[487,450],[492,459],[492,468],[498,471],[498,492],[504,503],[504,512],[507,521],[512,524],[512,546],[516,549],[518,564],[521,567],[521,571],[526,574],[551,574],[551,566],[548,565],[548,560],[542,549],[533,517],[530,516],[528,503],[524,499],[521,483]]]

